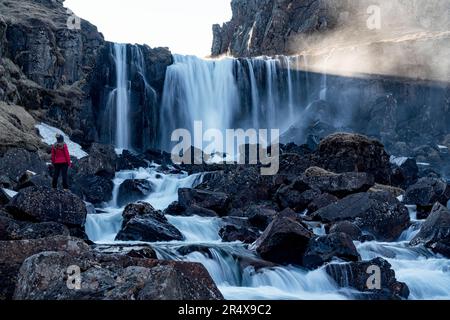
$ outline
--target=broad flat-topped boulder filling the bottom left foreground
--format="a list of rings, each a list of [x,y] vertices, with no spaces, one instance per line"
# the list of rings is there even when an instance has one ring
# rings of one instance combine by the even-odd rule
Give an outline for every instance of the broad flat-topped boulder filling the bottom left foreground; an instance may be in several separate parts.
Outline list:
[[[68,272],[76,268],[81,280],[78,290],[70,286],[76,281],[68,279]],[[198,263],[43,252],[23,263],[14,299],[222,300],[223,296]]]

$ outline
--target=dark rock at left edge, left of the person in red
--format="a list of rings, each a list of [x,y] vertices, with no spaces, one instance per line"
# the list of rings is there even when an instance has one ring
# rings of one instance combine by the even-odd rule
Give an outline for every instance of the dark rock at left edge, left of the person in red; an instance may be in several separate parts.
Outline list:
[[[47,166],[37,152],[13,148],[9,149],[0,158],[0,172],[12,180],[18,181],[20,176],[26,171],[31,171],[35,174],[45,174],[47,172]]]

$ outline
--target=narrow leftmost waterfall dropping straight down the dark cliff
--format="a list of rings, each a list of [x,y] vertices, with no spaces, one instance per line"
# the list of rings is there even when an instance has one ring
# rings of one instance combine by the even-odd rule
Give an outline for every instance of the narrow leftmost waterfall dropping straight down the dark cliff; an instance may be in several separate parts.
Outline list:
[[[110,103],[114,104],[116,114],[116,147],[129,149],[130,146],[130,84],[128,81],[127,46],[114,44],[116,65],[116,89],[111,92]]]

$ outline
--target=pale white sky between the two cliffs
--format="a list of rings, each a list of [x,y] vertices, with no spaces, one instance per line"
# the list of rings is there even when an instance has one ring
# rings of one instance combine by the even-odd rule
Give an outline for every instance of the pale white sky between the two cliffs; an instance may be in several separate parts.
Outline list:
[[[172,53],[207,56],[212,25],[231,19],[231,0],[66,0],[106,40],[169,47]]]

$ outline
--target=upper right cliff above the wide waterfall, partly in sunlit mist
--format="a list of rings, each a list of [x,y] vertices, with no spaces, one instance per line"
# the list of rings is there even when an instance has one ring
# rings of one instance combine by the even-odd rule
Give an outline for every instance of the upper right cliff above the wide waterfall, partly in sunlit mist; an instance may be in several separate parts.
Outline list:
[[[448,0],[232,0],[231,6],[231,21],[213,26],[213,56],[298,54],[449,30]]]

